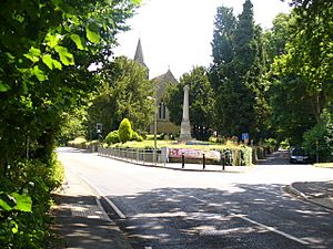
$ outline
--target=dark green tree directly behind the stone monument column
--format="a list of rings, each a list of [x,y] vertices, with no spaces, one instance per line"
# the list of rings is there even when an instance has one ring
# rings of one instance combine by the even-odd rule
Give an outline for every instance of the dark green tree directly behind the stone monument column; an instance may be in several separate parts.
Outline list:
[[[213,127],[213,90],[209,82],[208,72],[203,66],[195,66],[190,73],[184,73],[180,83],[170,84],[167,89],[167,107],[170,118],[180,125],[182,121],[183,87],[189,85],[190,121],[193,136],[208,139]]]

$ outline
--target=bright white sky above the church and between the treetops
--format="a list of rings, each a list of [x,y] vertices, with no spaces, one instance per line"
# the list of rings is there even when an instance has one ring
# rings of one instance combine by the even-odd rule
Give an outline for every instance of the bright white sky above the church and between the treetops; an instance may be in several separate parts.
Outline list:
[[[114,49],[114,55],[133,59],[140,38],[150,79],[168,69],[179,79],[193,66],[209,66],[216,8],[233,8],[238,15],[244,1],[142,0],[142,7],[128,21],[131,30],[118,35],[120,45]],[[252,0],[252,3],[255,23],[264,29],[272,27],[278,13],[290,11],[289,4],[281,0]]]

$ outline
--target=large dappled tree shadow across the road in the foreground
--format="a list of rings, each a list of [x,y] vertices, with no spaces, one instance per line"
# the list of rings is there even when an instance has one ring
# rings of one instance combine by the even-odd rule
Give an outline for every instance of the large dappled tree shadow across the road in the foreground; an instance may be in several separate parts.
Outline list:
[[[240,184],[232,190],[160,188],[109,198],[127,214],[127,219],[111,215],[133,248],[144,245],[206,249],[333,248],[332,214],[292,199],[281,191],[281,187]],[[311,246],[245,221],[240,216],[274,227]]]

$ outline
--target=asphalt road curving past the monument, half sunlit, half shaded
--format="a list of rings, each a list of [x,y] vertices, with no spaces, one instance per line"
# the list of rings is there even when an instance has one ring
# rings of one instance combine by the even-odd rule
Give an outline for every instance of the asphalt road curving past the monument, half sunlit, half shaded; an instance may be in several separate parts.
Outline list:
[[[64,166],[103,196],[133,248],[333,248],[332,210],[283,191],[332,169],[282,162],[242,173],[151,168],[60,148]],[[117,208],[110,208],[110,201]]]

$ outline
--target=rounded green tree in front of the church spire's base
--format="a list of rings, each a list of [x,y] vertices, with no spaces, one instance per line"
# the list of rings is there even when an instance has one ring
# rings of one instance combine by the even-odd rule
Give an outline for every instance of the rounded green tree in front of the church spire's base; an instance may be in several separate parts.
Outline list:
[[[145,131],[153,116],[152,82],[145,69],[124,56],[105,63],[99,71],[99,86],[88,110],[88,132],[95,136],[95,124],[102,123],[102,136],[118,128],[128,117],[135,131]]]

